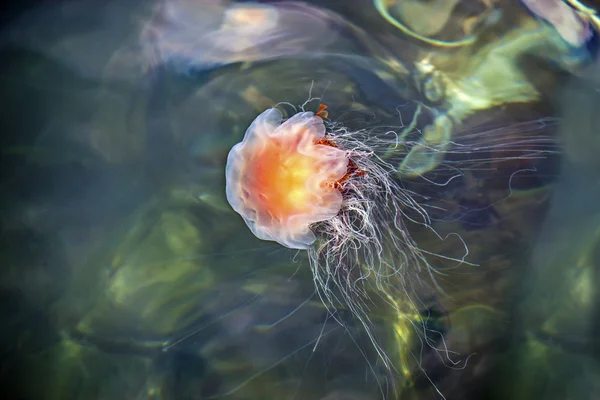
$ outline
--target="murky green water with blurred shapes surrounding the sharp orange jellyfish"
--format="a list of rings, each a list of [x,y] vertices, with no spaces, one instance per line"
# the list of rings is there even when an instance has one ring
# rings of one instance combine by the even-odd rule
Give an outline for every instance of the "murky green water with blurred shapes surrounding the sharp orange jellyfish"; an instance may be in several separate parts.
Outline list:
[[[595,7],[85,0],[14,16],[4,390],[600,398]],[[446,257],[439,290],[396,299],[405,314],[373,301],[391,371],[349,310],[324,308],[305,254],[256,239],[225,199],[225,158],[256,115],[320,101],[350,130],[398,135],[386,161],[439,236],[411,233]]]

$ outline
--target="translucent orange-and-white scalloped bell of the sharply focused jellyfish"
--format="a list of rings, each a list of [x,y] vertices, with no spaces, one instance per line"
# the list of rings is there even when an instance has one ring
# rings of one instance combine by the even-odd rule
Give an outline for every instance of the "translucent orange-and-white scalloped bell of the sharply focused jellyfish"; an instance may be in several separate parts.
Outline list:
[[[229,153],[227,200],[258,238],[307,249],[316,240],[311,225],[339,213],[349,153],[326,140],[321,115],[282,123],[281,112],[268,109]]]

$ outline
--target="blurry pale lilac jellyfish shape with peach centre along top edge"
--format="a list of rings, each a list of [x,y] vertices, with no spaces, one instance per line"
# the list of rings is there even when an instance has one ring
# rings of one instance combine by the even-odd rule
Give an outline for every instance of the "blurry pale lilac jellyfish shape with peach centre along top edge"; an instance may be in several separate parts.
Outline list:
[[[140,35],[149,62],[182,71],[321,51],[339,36],[334,16],[303,3],[167,0]]]

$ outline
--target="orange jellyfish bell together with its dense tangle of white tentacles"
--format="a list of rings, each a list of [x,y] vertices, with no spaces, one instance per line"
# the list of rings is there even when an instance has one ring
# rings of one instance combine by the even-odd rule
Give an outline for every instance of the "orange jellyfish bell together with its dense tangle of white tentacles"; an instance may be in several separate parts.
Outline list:
[[[327,116],[323,104],[286,120],[277,108],[261,113],[228,155],[227,200],[259,239],[308,252],[323,303],[349,309],[389,363],[371,332],[366,282],[400,312],[395,290],[408,288],[391,281],[429,265],[404,226],[406,210],[423,225],[427,213],[377,155],[396,136],[349,131]]]

